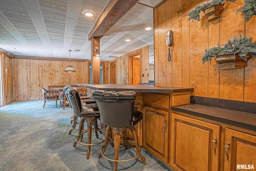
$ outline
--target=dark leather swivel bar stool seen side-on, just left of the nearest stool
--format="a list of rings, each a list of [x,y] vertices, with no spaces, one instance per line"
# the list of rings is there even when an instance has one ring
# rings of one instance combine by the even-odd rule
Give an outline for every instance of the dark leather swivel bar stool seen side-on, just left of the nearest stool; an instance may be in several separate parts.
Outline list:
[[[95,130],[96,136],[98,135],[97,119],[100,118],[100,113],[98,111],[97,103],[90,103],[90,104],[82,105],[79,93],[78,93],[77,89],[74,87],[70,87],[70,88],[66,89],[66,93],[68,95],[70,104],[74,111],[74,115],[76,117],[80,117],[78,136],[76,137],[76,141],[74,142],[73,147],[76,147],[77,143],[79,143],[80,145],[88,145],[88,152],[86,155],[87,155],[87,159],[89,159],[91,145],[98,145],[98,144],[104,142],[104,141],[101,141],[98,143],[92,143],[92,125],[93,125],[93,123],[94,123],[94,130]],[[87,122],[87,130],[83,130],[85,120]],[[95,123],[96,123],[96,125],[95,125]],[[86,132],[87,132],[88,143],[83,143],[82,135]]]

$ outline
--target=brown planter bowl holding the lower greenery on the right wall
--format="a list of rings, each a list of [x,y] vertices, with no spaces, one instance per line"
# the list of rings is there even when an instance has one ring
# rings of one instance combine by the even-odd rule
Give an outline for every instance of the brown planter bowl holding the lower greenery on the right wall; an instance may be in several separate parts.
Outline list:
[[[246,58],[248,61],[252,56],[246,54]],[[247,61],[243,60],[238,53],[216,55],[216,62],[220,65],[220,69],[246,67]]]

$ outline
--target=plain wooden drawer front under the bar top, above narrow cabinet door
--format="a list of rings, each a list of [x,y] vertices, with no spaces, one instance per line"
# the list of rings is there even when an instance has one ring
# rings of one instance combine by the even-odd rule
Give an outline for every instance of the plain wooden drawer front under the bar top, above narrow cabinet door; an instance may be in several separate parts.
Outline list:
[[[170,109],[170,95],[143,93],[144,103]]]

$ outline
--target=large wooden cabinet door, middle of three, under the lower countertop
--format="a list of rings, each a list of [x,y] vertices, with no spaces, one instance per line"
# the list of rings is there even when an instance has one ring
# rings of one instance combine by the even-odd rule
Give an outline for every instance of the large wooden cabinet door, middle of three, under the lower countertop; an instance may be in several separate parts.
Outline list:
[[[218,171],[220,126],[174,113],[171,117],[171,166],[178,171]]]

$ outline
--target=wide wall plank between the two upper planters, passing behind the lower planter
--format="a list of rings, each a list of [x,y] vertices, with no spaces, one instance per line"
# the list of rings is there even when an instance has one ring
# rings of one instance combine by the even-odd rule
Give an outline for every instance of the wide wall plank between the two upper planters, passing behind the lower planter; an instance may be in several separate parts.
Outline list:
[[[242,19],[242,13],[236,15],[236,11],[242,6],[243,0],[225,3],[222,22],[220,22],[220,44],[225,44],[229,38],[233,39],[239,34],[244,36],[245,22]],[[220,70],[220,98],[243,100],[243,95],[244,68]]]

